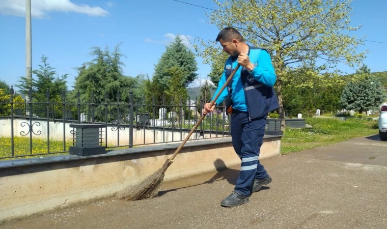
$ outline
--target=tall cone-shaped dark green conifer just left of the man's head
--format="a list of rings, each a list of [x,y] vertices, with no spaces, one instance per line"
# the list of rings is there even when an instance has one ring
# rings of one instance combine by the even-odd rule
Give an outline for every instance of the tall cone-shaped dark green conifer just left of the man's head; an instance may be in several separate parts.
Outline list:
[[[171,78],[170,69],[179,67],[184,72],[183,87],[187,87],[189,83],[197,78],[195,73],[198,70],[195,54],[182,43],[180,36],[176,36],[175,41],[167,46],[165,52],[155,66],[153,80],[158,81],[163,90],[168,88],[168,82]]]

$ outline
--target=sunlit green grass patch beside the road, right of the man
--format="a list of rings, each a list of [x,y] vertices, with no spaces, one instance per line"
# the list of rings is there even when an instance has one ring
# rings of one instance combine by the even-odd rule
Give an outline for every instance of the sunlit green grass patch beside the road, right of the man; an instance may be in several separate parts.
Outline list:
[[[308,118],[312,128],[286,129],[281,139],[281,153],[289,154],[327,146],[347,139],[377,134],[377,121],[348,118]]]

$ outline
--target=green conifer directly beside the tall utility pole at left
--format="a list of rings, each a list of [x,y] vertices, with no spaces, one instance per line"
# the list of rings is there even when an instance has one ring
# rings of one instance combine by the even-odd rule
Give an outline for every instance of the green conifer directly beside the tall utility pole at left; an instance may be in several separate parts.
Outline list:
[[[64,91],[67,91],[66,78],[68,74],[58,76],[57,72],[47,62],[47,57],[41,57],[42,64],[39,69],[33,70],[32,73],[36,78],[20,77],[20,84],[16,86],[20,92],[28,95],[29,90],[32,89],[33,99],[38,102],[47,101],[47,92],[49,93],[49,101],[60,102]]]

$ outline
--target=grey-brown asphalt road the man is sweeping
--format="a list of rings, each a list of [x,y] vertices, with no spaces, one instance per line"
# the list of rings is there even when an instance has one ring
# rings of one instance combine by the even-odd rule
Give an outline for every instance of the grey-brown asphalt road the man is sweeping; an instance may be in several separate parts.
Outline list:
[[[262,161],[273,182],[236,208],[239,168],[164,183],[160,196],[45,212],[0,228],[387,228],[387,141],[377,135]]]

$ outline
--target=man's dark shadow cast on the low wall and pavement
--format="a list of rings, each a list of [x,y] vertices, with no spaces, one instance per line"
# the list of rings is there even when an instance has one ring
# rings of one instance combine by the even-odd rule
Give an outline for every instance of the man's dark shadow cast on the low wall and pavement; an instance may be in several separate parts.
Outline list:
[[[202,184],[212,184],[213,182],[222,181],[222,180],[227,180],[227,182],[229,182],[232,185],[236,184],[236,179],[239,176],[239,170],[233,169],[233,168],[228,168],[227,165],[225,164],[225,162],[219,158],[214,161],[214,166],[215,166],[217,173],[208,181],[205,181],[204,183],[201,183],[201,184],[159,191],[158,196],[163,195],[167,192],[176,191],[178,189],[198,186],[198,185],[202,185]]]

